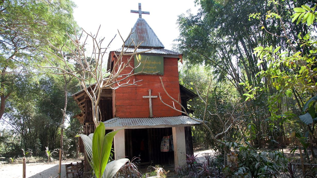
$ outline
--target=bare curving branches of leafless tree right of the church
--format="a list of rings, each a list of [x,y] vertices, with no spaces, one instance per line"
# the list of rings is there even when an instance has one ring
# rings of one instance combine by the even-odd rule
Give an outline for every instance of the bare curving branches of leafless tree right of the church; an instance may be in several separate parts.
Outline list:
[[[162,102],[164,105],[166,105],[166,106],[168,106],[168,107],[170,107],[170,108],[172,108],[172,109],[174,109],[174,110],[176,110],[176,111],[179,111],[179,112],[185,114],[186,116],[190,117],[191,119],[193,119],[193,120],[195,120],[195,121],[197,121],[197,122],[202,123],[202,124],[204,125],[204,127],[209,131],[209,134],[210,134],[210,136],[211,136],[211,139],[212,139],[213,141],[215,141],[216,143],[226,145],[226,143],[223,142],[222,140],[220,140],[219,138],[220,138],[221,136],[223,136],[224,134],[226,134],[226,133],[230,130],[230,128],[231,128],[234,124],[237,123],[237,121],[239,121],[241,118],[243,118],[243,117],[249,115],[249,114],[248,114],[248,115],[245,115],[245,114],[244,114],[244,108],[245,108],[244,106],[246,105],[246,102],[242,102],[242,103],[239,103],[239,104],[237,104],[237,105],[233,105],[233,103],[230,101],[230,104],[231,104],[231,106],[232,106],[232,110],[231,110],[231,111],[228,111],[228,110],[227,110],[226,115],[228,116],[228,118],[221,118],[220,115],[219,115],[219,113],[218,113],[218,108],[217,108],[217,101],[216,101],[216,99],[215,99],[216,113],[211,113],[210,111],[208,111],[207,108],[208,108],[208,105],[209,105],[209,93],[210,93],[210,88],[211,88],[211,84],[212,84],[212,80],[210,80],[210,84],[209,84],[209,86],[208,86],[208,89],[207,89],[207,93],[206,93],[206,94],[203,94],[202,92],[200,92],[200,91],[197,89],[197,86],[194,85],[199,99],[201,99],[201,100],[204,102],[205,108],[204,108],[204,115],[203,115],[202,121],[201,121],[201,120],[198,120],[198,119],[196,119],[196,118],[193,118],[193,117],[186,111],[186,109],[184,108],[184,106],[179,102],[179,95],[178,95],[178,100],[172,98],[172,97],[168,94],[168,92],[166,91],[166,89],[165,89],[165,87],[164,87],[164,83],[163,83],[162,77],[160,77],[160,79],[161,79],[161,84],[162,84],[162,86],[163,86],[163,89],[164,89],[165,93],[167,94],[167,96],[168,96],[170,99],[172,99],[172,105],[169,105],[169,104],[165,103],[165,102],[163,101],[162,97],[161,97],[161,94],[159,93],[159,99],[161,100],[161,102]],[[175,103],[176,103],[176,105],[180,105],[183,110],[178,110],[178,109],[176,109]],[[222,131],[221,131],[220,133],[214,134],[213,131],[210,129],[210,127],[206,124],[206,115],[207,115],[207,114],[210,114],[210,116],[217,116],[217,118],[220,120],[220,122],[221,122],[221,124],[222,124],[222,127],[223,127],[223,129],[222,129]],[[225,146],[225,150],[226,150],[228,153],[231,152],[230,148],[228,148],[228,147],[226,147],[226,146]]]

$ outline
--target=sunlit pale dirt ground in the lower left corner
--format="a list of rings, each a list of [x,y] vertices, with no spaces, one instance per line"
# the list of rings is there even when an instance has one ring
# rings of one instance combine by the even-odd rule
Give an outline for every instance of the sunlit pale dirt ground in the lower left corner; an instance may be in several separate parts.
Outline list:
[[[79,162],[80,160],[62,161],[61,177],[66,177],[65,164],[71,162]],[[18,164],[3,164],[0,165],[0,177],[20,178],[22,177],[22,163]],[[27,163],[26,177],[29,178],[48,178],[55,177],[58,173],[58,161],[53,163]]]

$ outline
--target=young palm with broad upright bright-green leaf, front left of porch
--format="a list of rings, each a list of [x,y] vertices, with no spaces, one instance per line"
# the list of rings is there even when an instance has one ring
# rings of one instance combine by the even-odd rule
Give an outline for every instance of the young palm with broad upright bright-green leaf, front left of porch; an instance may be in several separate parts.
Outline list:
[[[112,140],[118,131],[112,131],[105,136],[105,125],[100,122],[93,134],[89,134],[89,136],[79,134],[76,136],[81,137],[84,143],[88,160],[91,160],[89,164],[93,168],[96,178],[112,178],[129,161],[129,159],[123,158],[108,163]]]

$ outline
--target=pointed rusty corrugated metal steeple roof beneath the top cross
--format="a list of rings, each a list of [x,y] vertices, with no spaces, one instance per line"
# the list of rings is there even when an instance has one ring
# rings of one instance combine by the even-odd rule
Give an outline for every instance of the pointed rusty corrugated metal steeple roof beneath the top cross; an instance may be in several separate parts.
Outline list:
[[[164,48],[163,43],[143,18],[138,18],[132,28],[132,32],[133,34],[127,40],[126,45],[129,45],[133,39],[135,44],[140,44],[143,41],[141,47]]]

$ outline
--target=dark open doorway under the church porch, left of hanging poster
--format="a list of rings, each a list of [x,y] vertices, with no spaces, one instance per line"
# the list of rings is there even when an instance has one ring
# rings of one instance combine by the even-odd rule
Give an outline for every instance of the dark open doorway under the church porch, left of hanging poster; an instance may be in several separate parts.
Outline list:
[[[142,163],[148,163],[150,161],[148,129],[126,129],[125,134],[126,138],[130,138],[129,143],[126,142],[126,156],[130,160],[139,157]]]

